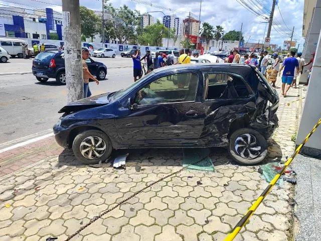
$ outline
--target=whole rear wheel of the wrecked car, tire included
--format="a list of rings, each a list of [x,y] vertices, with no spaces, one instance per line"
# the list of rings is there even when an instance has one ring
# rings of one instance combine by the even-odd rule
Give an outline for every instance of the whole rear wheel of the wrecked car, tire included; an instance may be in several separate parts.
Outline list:
[[[229,153],[240,164],[258,164],[267,155],[267,141],[258,131],[242,128],[230,136]]]

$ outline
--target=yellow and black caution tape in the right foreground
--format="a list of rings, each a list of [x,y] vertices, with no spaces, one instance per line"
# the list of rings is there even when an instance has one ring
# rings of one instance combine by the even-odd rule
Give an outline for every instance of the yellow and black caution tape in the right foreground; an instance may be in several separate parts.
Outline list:
[[[267,194],[271,191],[272,187],[275,185],[277,180],[281,177],[281,175],[284,173],[286,168],[290,165],[294,157],[301,151],[302,147],[305,145],[307,140],[311,137],[313,132],[316,130],[316,128],[321,124],[321,118],[319,118],[319,121],[316,123],[316,125],[313,127],[312,131],[306,136],[304,141],[296,148],[295,152],[292,154],[292,156],[285,162],[282,169],[276,174],[276,176],[272,179],[272,181],[269,183],[269,185],[265,188],[265,190],[262,192],[262,194],[256,199],[256,201],[253,203],[253,205],[247,210],[246,214],[241,218],[241,220],[235,225],[232,232],[226,236],[224,241],[232,241],[236,235],[239,233],[239,231],[244,227],[244,225],[247,223],[247,221],[250,219],[250,217],[253,215],[255,210],[258,208],[258,206],[261,204],[263,199],[267,196]]]

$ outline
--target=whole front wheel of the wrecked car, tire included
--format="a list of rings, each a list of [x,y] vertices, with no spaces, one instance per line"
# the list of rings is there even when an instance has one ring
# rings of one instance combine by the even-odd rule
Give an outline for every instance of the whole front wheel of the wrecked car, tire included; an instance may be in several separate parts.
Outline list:
[[[99,142],[101,143],[99,144]],[[94,143],[92,143],[94,142]],[[86,143],[86,144],[83,144]],[[94,150],[85,151],[89,147],[87,144],[92,145],[91,147]],[[99,145],[98,145],[99,144]],[[96,148],[102,149],[98,150]],[[112,144],[109,137],[98,130],[88,130],[82,133],[79,133],[73,141],[72,150],[74,152],[75,157],[83,164],[97,164],[100,161],[104,162],[110,156],[112,151]],[[90,151],[92,151],[90,153]],[[97,156],[95,152],[99,155]],[[93,159],[92,159],[93,158]]]

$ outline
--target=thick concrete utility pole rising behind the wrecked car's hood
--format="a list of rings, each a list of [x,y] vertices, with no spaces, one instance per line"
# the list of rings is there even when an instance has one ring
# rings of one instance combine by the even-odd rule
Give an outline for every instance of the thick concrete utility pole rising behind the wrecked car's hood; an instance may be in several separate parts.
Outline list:
[[[79,0],[62,0],[67,103],[84,97]]]

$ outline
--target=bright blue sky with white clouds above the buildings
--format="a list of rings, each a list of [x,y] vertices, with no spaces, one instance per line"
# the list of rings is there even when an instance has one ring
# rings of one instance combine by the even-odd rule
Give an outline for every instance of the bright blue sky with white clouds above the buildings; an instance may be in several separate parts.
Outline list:
[[[163,11],[166,15],[176,14],[177,17],[186,18],[189,12],[196,19],[199,19],[201,0],[109,0],[115,8],[127,5],[130,9],[139,10],[140,13],[149,11]],[[241,0],[202,0],[201,22],[208,22],[213,26],[221,25],[225,32],[230,30],[241,30],[245,42],[262,43],[264,30],[267,25],[264,17],[268,17],[268,11],[272,8],[272,0],[243,0],[251,5],[257,13],[261,14],[261,18],[250,13],[240,3]],[[8,3],[12,2],[12,3]],[[16,4],[14,4],[16,3]],[[149,3],[149,4],[148,4]],[[151,6],[150,6],[151,3]],[[20,4],[20,5],[19,5]],[[156,6],[153,6],[155,4]],[[53,8],[55,11],[62,11],[60,5],[61,0],[0,0],[0,7],[11,5],[26,8]],[[101,0],[80,0],[80,5],[92,10],[101,11]],[[293,40],[300,44],[300,50],[303,48],[304,39],[302,36],[303,21],[303,5],[304,0],[277,0],[275,6],[274,19],[276,23],[271,30],[271,44],[283,45],[284,40],[290,40],[290,33],[294,26]],[[163,9],[160,6],[166,6]],[[278,6],[278,7],[277,7]],[[163,21],[162,13],[150,13],[154,18]],[[263,19],[262,19],[263,18]],[[283,19],[282,19],[283,18]],[[265,33],[266,36],[266,33]]]

